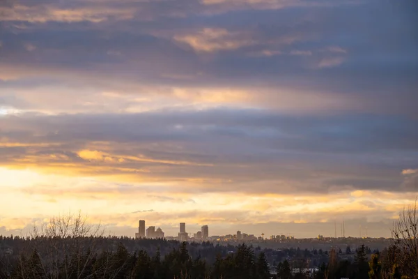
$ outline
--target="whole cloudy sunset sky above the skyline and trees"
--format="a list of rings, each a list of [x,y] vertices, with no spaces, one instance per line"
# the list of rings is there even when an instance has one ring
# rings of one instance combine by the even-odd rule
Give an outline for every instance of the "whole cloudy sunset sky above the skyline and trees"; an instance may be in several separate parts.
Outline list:
[[[1,0],[0,234],[82,211],[389,236],[418,195],[414,0]]]

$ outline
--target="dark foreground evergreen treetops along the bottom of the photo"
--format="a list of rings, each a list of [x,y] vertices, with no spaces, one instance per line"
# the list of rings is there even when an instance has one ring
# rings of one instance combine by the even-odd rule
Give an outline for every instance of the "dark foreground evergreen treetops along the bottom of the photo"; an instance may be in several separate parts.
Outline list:
[[[277,266],[268,264],[265,253],[255,252],[243,243],[235,252],[226,256],[218,254],[213,264],[200,255],[192,257],[187,243],[180,243],[164,257],[157,248],[155,255],[145,250],[129,252],[123,243],[116,250],[93,251],[94,246],[78,246],[77,239],[65,243],[57,242],[54,252],[43,247],[43,252],[33,248],[20,255],[0,258],[0,278],[47,279],[47,278],[132,278],[132,279],[407,279],[418,278],[418,274],[405,262],[401,251],[391,246],[382,252],[367,256],[366,246],[360,246],[354,261],[340,259],[338,252],[331,250],[328,263],[318,269],[308,269],[307,263],[288,261]],[[70,245],[68,245],[70,243]],[[85,244],[85,243],[84,243]],[[40,246],[41,248],[42,246]],[[190,247],[190,246],[189,246]],[[54,248],[54,249],[55,249]],[[52,251],[52,250],[49,250]]]

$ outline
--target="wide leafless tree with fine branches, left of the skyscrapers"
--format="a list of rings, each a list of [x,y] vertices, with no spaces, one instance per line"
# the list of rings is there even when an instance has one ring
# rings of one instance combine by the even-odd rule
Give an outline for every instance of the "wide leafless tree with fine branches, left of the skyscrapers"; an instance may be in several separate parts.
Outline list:
[[[33,227],[30,234],[33,245],[26,255],[36,251],[40,258],[39,269],[46,278],[91,278],[94,274],[87,271],[92,266],[98,252],[106,248],[100,246],[104,236],[102,225],[88,223],[82,213],[68,213],[54,216],[48,222]],[[95,273],[106,273],[109,270],[111,253],[107,259],[95,266]],[[20,277],[33,278],[24,265],[25,255],[20,257]]]

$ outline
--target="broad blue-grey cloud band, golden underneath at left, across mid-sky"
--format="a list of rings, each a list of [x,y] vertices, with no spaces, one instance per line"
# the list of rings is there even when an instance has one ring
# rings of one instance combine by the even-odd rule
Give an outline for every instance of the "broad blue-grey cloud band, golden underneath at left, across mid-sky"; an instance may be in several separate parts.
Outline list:
[[[2,118],[0,124],[3,166],[126,183],[160,181],[182,191],[403,191],[398,168],[382,160],[390,158],[404,169],[418,163],[408,155],[418,147],[417,133],[409,130],[416,123],[405,118],[295,118],[218,109],[21,114]],[[390,157],[381,158],[382,151]]]

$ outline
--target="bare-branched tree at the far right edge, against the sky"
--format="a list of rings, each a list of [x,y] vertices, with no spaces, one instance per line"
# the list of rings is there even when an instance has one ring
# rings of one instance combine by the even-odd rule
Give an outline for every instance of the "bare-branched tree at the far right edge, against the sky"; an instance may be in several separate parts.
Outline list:
[[[401,273],[408,278],[418,278],[418,215],[417,199],[399,213],[392,229],[396,262]]]

